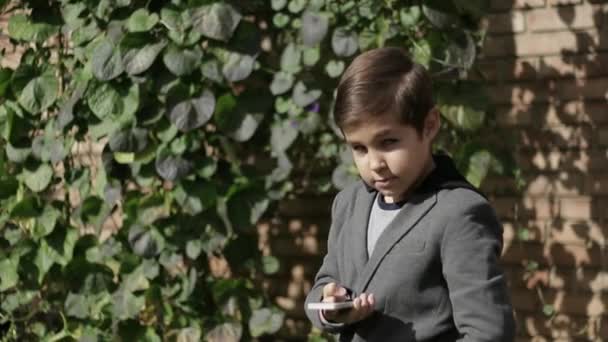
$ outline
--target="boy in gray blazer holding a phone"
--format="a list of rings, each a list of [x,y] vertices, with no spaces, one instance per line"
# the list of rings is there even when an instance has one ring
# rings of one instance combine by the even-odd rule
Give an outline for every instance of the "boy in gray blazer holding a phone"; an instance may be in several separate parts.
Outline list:
[[[306,303],[354,306],[306,310],[312,323],[340,341],[512,341],[502,227],[452,160],[431,153],[440,117],[424,67],[398,48],[363,53],[334,117],[362,181],[334,200]]]

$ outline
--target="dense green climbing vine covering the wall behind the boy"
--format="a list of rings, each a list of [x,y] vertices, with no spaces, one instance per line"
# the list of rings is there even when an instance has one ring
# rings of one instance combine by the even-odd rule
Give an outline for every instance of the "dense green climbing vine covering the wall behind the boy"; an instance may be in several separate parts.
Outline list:
[[[481,86],[464,80],[484,13],[469,2],[13,5],[25,52],[0,70],[5,340],[278,331],[284,314],[258,285],[280,263],[253,228],[274,201],[354,176],[330,108],[358,52],[409,48],[440,76],[439,147],[475,183],[508,172],[477,134]]]

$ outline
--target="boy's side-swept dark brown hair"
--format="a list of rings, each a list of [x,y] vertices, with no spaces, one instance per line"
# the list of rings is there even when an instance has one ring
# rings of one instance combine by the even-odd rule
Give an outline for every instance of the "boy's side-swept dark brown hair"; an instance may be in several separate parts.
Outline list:
[[[334,120],[341,129],[373,116],[396,114],[422,132],[433,108],[431,77],[400,48],[385,47],[357,56],[338,84]]]

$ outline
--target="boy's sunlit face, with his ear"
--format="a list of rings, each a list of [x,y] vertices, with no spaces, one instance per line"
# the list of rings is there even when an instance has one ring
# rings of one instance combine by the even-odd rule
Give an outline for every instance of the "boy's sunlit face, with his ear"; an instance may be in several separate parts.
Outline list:
[[[434,167],[431,144],[439,130],[439,113],[428,113],[422,133],[396,115],[373,117],[344,130],[360,176],[384,195],[399,202]]]

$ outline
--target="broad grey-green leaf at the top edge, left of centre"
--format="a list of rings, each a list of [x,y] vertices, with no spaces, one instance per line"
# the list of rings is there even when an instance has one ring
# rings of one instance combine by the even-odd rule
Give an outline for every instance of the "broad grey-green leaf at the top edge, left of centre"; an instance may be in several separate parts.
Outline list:
[[[241,21],[241,14],[227,3],[200,7],[194,14],[193,29],[216,40],[227,42]]]

